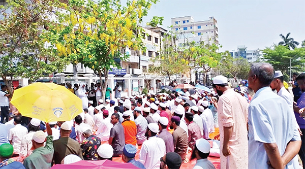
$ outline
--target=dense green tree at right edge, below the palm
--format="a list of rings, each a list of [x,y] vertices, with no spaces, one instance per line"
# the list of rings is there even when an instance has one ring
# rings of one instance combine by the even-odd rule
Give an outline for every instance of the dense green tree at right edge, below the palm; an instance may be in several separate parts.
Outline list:
[[[280,70],[283,73],[290,69],[303,71],[305,63],[305,48],[295,48],[290,50],[282,45],[274,45],[263,50],[263,60],[272,64],[275,70]]]

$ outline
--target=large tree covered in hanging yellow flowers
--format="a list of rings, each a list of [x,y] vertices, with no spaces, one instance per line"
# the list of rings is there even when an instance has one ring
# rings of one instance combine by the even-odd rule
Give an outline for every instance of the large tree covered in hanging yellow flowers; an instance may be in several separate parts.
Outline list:
[[[48,39],[56,46],[60,57],[83,63],[99,75],[104,99],[111,66],[119,67],[114,59],[126,60],[120,49],[144,48],[138,25],[151,5],[158,0],[68,0],[55,13],[58,24],[50,25]],[[105,81],[102,81],[105,77]]]

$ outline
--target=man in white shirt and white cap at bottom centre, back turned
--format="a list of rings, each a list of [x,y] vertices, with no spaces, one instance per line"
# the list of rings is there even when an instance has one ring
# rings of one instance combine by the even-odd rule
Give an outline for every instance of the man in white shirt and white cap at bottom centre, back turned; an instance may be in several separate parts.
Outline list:
[[[160,158],[166,154],[164,141],[156,137],[158,132],[157,123],[148,124],[145,132],[147,140],[143,143],[139,154],[139,161],[144,164],[145,168],[160,168]]]

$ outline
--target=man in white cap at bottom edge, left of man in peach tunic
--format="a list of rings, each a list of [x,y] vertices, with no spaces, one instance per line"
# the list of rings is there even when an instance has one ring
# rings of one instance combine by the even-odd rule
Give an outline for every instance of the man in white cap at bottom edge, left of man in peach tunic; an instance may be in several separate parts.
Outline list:
[[[191,155],[191,160],[197,159],[193,169],[215,169],[213,163],[207,159],[210,149],[210,144],[205,139],[196,141]]]

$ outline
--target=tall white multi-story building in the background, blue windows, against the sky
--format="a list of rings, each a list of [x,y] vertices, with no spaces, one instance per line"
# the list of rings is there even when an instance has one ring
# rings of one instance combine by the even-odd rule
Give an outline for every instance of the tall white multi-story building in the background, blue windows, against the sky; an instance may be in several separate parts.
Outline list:
[[[214,17],[205,21],[194,21],[192,16],[177,17],[171,19],[171,24],[172,31],[177,34],[179,46],[193,41],[219,44],[218,23]]]

